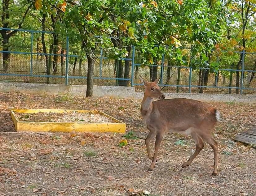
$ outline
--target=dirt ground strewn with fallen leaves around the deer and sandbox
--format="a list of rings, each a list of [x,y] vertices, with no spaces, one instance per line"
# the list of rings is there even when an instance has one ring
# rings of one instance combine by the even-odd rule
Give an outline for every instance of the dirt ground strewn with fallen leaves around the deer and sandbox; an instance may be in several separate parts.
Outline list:
[[[233,140],[256,126],[256,104],[210,103],[222,115],[213,177],[208,144],[181,168],[195,144],[180,134],[165,135],[156,168],[147,171],[140,101],[0,93],[0,195],[256,195],[256,150]],[[15,132],[8,108],[99,109],[127,123],[126,134]],[[127,146],[119,146],[122,139]]]

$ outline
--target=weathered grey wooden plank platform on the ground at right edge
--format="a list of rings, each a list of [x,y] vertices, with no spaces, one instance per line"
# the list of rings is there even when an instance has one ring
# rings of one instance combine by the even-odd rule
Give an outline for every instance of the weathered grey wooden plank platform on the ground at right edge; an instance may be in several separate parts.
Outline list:
[[[252,145],[252,147],[256,148],[256,127],[253,127],[241,134],[237,134],[235,140]]]

